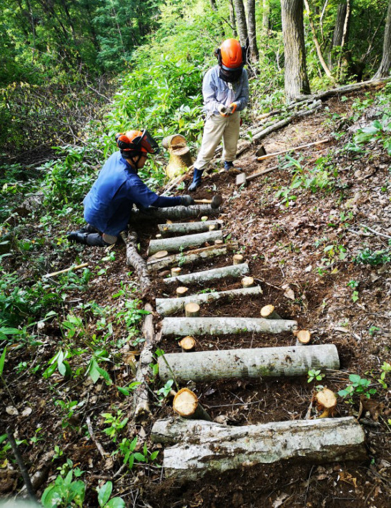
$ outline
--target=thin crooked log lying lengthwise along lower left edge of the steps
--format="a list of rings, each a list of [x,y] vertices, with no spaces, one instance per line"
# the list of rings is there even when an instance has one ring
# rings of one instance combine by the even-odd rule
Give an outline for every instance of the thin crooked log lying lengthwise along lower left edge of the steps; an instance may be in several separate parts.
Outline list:
[[[146,303],[144,308],[146,311],[150,312],[150,314],[145,316],[142,327],[142,335],[145,341],[144,347],[141,350],[136,377],[134,378],[134,381],[141,384],[134,390],[132,405],[134,420],[141,423],[147,423],[151,416],[148,398],[150,390],[148,382],[153,378],[153,373],[150,365],[153,362],[153,348],[161,338],[161,335],[155,335],[153,330],[153,307],[149,303]]]

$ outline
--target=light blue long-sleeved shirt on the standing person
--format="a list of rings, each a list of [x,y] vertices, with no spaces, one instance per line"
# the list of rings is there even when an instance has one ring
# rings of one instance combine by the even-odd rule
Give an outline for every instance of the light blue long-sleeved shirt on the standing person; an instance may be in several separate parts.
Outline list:
[[[202,83],[204,110],[207,115],[218,115],[218,104],[229,106],[236,102],[236,111],[242,111],[248,103],[248,76],[243,69],[241,78],[235,83],[226,83],[220,77],[220,68],[215,65],[205,74]]]

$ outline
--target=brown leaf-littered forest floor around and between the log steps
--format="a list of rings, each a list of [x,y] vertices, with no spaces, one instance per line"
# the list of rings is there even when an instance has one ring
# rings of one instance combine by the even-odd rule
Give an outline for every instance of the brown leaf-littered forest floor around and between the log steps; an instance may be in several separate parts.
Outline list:
[[[320,112],[295,121],[263,140],[266,152],[328,137],[336,130],[338,121],[351,115],[351,105],[359,98],[360,94],[356,93],[342,100],[329,99]],[[340,132],[347,131],[343,121],[340,129]],[[204,307],[201,315],[259,317],[261,307],[272,304],[280,316],[297,320],[299,329],[311,330],[312,344],[335,344],[340,356],[340,371],[327,373],[320,384],[338,392],[351,384],[349,375],[356,374],[370,380],[371,388],[376,388],[370,403],[361,401],[360,423],[367,439],[367,461],[252,466],[209,475],[198,482],[165,479],[160,467],[162,446],[151,443],[149,434],[153,421],[172,416],[173,410],[169,398],[159,397],[157,380],[151,384],[155,400],[150,425],[140,427],[129,420],[122,429],[113,431],[115,441],[104,432],[110,425],[103,414],[116,414],[119,421],[130,416],[132,397],[123,396],[116,387],[132,381],[134,355],[137,355],[134,349],[140,347],[137,337],[133,344],[125,340],[128,334],[123,327],[126,301],[139,296],[137,279],[125,263],[125,247],[119,244],[113,254],[96,248],[68,246],[56,259],[46,249],[51,266],[55,264],[56,269],[62,269],[72,262],[88,262],[94,275],[87,290],[74,287],[67,291],[64,314],[78,303],[92,301],[108,309],[110,312],[105,311],[101,316],[111,321],[113,328],[106,345],[116,350],[120,361],[105,366],[114,380],[111,385],[102,378],[95,384],[83,376],[64,380],[58,372],[53,373],[48,383],[31,369],[22,369],[23,362],[29,366],[44,364],[56,353],[62,337],[56,320],[40,325],[39,346],[10,349],[7,383],[13,400],[3,389],[1,397],[7,407],[4,416],[17,439],[25,440],[20,448],[28,470],[31,474],[45,473],[41,494],[58,476],[57,468],[67,458],[71,459],[73,467],[85,471],[82,476],[87,484],[84,506],[88,507],[98,506],[96,486],[107,480],[114,482],[115,495],[121,496],[128,507],[390,506],[391,391],[386,384],[382,386],[378,382],[381,366],[391,359],[390,263],[384,264],[378,259],[379,263],[374,261],[372,266],[365,260],[370,255],[376,260],[374,253],[377,251],[389,252],[391,158],[379,143],[371,142],[365,145],[364,151],[357,153],[344,149],[349,142],[351,134],[345,133],[338,141],[333,139],[327,144],[291,153],[299,164],[296,164],[297,173],[311,178],[318,176],[318,180],[313,182],[312,190],[311,185],[304,188],[304,184],[288,189],[285,202],[284,196],[277,198],[276,192],[292,181],[293,167],[286,167],[286,164],[279,164],[279,169],[243,188],[236,187],[237,171],[215,172],[204,178],[196,197],[208,198],[217,192],[223,195],[225,201],[220,218],[224,220],[225,233],[237,242],[238,252],[249,262],[250,274],[261,285],[263,294],[252,300],[223,301]],[[276,158],[254,161],[254,150],[247,151],[236,162],[247,174],[277,164]],[[318,172],[311,175],[320,157],[323,162],[318,162]],[[327,174],[322,173],[320,178],[320,171],[327,171]],[[189,182],[190,176],[186,184]],[[68,226],[71,229],[71,221]],[[37,231],[38,225],[31,223],[31,229]],[[157,227],[140,224],[138,232],[141,254],[147,257],[148,242],[156,235]],[[217,262],[186,265],[182,269],[187,273],[223,264],[230,264],[229,256],[220,257]],[[24,277],[28,266],[29,260],[26,260],[18,267]],[[163,293],[171,296],[161,279],[157,278],[155,284],[155,296]],[[208,289],[233,287],[238,287],[238,283],[229,280],[210,285]],[[205,287],[198,288],[201,289]],[[82,315],[82,310],[77,312]],[[84,313],[87,316],[84,332],[79,330],[76,337],[87,344],[86,337],[94,341],[88,327],[94,319],[96,321],[96,315],[94,317],[91,306],[86,307]],[[158,320],[156,315],[155,323]],[[290,333],[257,337],[215,335],[199,342],[200,349],[292,346],[295,337]],[[164,339],[159,347],[166,353],[178,350],[177,341],[170,338]],[[76,357],[69,362],[73,369],[77,368]],[[314,386],[304,377],[207,382],[197,384],[193,390],[212,419],[219,417],[219,421],[223,419],[229,425],[246,425],[304,418]],[[64,404],[56,402],[58,400]],[[78,404],[72,412],[71,401]],[[335,416],[358,416],[359,410],[360,393],[354,393],[345,400],[338,397]],[[94,427],[95,439],[107,453],[105,456],[86,432],[87,417]],[[152,463],[135,464],[128,473],[121,470],[121,474],[116,475],[122,464],[119,443],[123,437],[132,439],[136,435],[139,443],[146,441],[148,452],[159,450],[159,455]],[[58,448],[54,452],[55,446]],[[10,496],[20,488],[19,471],[9,459],[3,457],[3,460],[6,462],[0,464],[0,494]]]

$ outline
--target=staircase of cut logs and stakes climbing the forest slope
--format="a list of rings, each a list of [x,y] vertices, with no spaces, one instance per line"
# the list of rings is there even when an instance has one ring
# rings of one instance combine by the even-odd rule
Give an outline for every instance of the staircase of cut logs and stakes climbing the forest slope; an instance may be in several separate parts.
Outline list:
[[[300,337],[297,322],[281,317],[272,305],[263,307],[261,317],[202,317],[200,307],[220,298],[234,299],[238,296],[258,296],[262,288],[254,285],[250,268],[243,255],[233,255],[237,250],[234,243],[225,242],[229,226],[220,219],[209,220],[220,210],[205,205],[161,210],[158,217],[166,219],[157,225],[158,239],[150,241],[146,268],[151,277],[157,272],[164,278],[168,291],[176,290],[175,298],[156,298],[156,312],[162,316],[161,330],[155,334],[153,307],[144,320],[143,333],[146,339],[141,352],[136,380],[141,381],[134,395],[134,418],[148,421],[149,364],[153,348],[169,335],[183,337],[182,352],[159,357],[159,377],[162,382],[175,379],[177,385],[188,382],[213,382],[232,378],[301,376],[309,369],[339,369],[339,358],[333,344],[308,345],[309,334],[304,332],[302,340],[296,339],[295,346],[274,348],[246,348],[229,350],[197,351],[197,341],[213,335],[279,334],[292,332]],[[202,217],[197,220],[202,214]],[[192,221],[184,221],[189,217]],[[177,222],[173,222],[177,219]],[[186,220],[186,219],[185,219]],[[187,219],[189,220],[189,219]],[[173,236],[181,235],[181,236]],[[205,246],[207,244],[207,246]],[[226,265],[216,269],[182,274],[182,266],[194,261],[221,257]],[[169,269],[169,271],[168,271]],[[228,291],[189,294],[188,285],[237,278],[243,287]],[[180,312],[182,316],[171,317]],[[299,332],[302,333],[302,332]],[[305,344],[305,345],[304,345]],[[164,344],[162,346],[164,349]],[[151,438],[164,444],[164,471],[166,476],[193,480],[208,472],[223,472],[228,469],[269,464],[286,459],[304,462],[332,462],[357,460],[365,457],[364,432],[353,417],[318,418],[281,421],[257,425],[232,427],[211,421],[190,389],[175,393],[173,407],[177,416],[156,421]]]

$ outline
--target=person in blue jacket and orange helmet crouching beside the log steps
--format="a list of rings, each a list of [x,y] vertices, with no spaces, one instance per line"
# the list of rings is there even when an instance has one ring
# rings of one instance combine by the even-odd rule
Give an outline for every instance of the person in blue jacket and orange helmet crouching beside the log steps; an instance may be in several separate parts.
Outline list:
[[[139,208],[194,204],[191,196],[157,196],[138,176],[148,153],[155,155],[159,147],[147,130],[129,130],[116,135],[119,151],[103,165],[99,176],[85,196],[84,218],[87,225],[69,233],[67,238],[79,244],[105,247],[115,244],[119,233],[126,230],[133,203]]]

